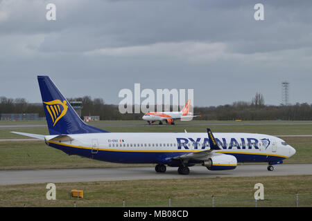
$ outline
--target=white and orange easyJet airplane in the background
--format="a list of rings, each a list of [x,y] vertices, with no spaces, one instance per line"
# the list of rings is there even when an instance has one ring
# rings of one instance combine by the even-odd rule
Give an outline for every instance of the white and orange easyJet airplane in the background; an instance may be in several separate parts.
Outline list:
[[[175,124],[175,119],[184,119],[191,120],[193,117],[193,113],[189,112],[189,106],[191,105],[191,99],[187,101],[182,111],[174,111],[174,112],[148,112],[146,113],[142,119],[146,120],[148,124],[153,124],[154,122],[159,122],[161,125],[162,122],[166,122],[167,124]]]

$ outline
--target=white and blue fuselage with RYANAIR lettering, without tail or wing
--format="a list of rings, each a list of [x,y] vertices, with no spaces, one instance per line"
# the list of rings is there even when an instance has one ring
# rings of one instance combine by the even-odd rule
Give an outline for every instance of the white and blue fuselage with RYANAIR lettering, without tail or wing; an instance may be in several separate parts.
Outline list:
[[[214,133],[220,150],[237,162],[278,162],[291,157],[295,149],[278,137],[254,133]],[[69,155],[92,157],[105,162],[168,164],[174,157],[209,150],[207,133],[89,133],[70,135],[72,140],[46,143]],[[192,161],[190,163],[200,163]]]

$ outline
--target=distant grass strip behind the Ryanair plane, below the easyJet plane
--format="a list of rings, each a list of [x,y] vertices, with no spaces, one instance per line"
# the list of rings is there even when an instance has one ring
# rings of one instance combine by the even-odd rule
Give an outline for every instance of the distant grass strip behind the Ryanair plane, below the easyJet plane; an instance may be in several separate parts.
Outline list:
[[[242,125],[242,124],[232,124],[230,125],[210,125],[216,122],[211,121],[192,121],[200,123],[200,125],[185,125],[183,122],[177,122],[176,125],[147,125],[143,121],[100,121],[92,122],[92,125],[104,129],[110,132],[120,132],[120,133],[144,133],[144,132],[184,132],[184,128],[187,129],[189,133],[205,133],[206,128],[211,128],[211,131],[214,133],[264,133],[268,135],[312,135],[312,125],[311,124],[273,124],[273,125]],[[117,126],[118,124],[141,124],[142,126]],[[258,121],[254,123],[259,123]],[[19,122],[15,122],[16,125]],[[101,124],[101,125],[98,125]],[[103,124],[117,124],[116,126],[105,126]],[[205,125],[201,125],[205,124]],[[0,139],[13,139],[13,138],[25,138],[21,135],[16,135],[10,133],[10,131],[19,131],[25,133],[38,133],[48,135],[48,128],[39,127],[39,128],[1,128],[0,129]]]

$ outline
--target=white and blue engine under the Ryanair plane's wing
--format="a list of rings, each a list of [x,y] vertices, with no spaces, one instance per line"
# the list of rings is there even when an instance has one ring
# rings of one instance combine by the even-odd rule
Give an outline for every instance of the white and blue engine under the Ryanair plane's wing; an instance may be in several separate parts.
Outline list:
[[[232,155],[215,155],[202,162],[202,166],[206,166],[210,171],[233,170],[237,166],[237,159]]]

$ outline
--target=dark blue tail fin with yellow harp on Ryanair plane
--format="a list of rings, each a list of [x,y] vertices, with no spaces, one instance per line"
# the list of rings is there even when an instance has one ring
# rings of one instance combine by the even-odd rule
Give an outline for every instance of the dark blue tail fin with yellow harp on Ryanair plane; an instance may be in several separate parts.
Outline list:
[[[85,124],[50,77],[38,76],[38,82],[50,135],[108,132]]]

